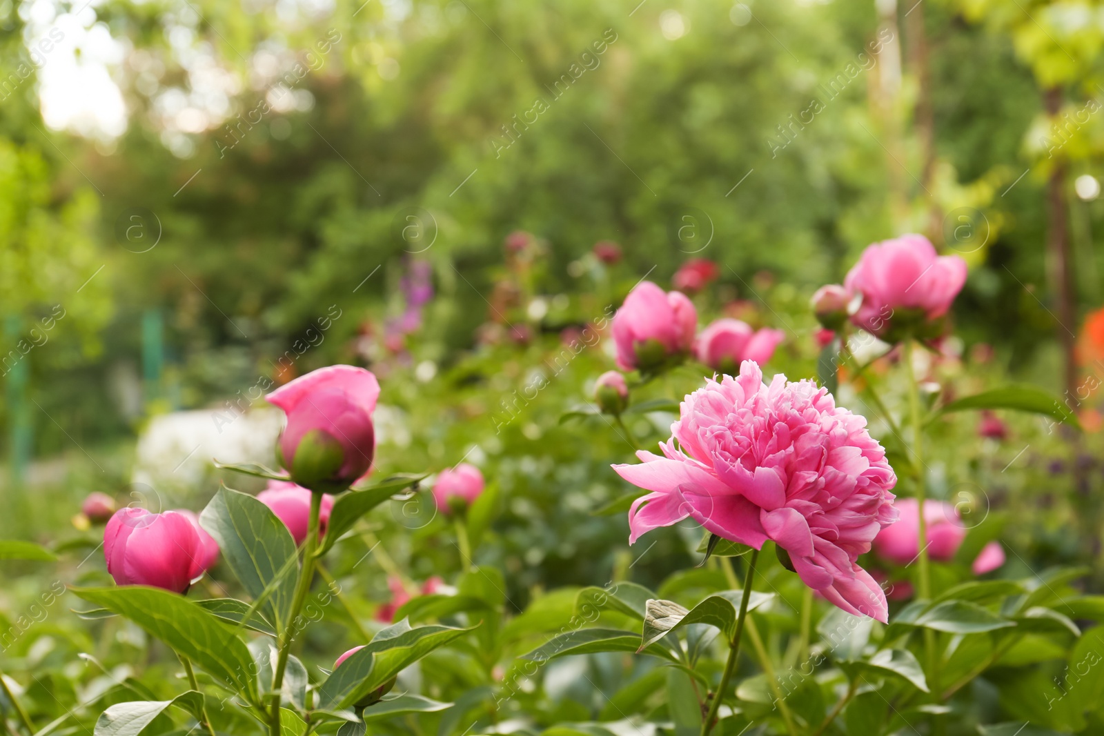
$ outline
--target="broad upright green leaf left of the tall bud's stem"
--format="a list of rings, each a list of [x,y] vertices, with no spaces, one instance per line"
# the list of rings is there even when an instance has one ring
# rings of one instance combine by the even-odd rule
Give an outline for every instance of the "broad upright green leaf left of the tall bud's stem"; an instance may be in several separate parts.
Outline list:
[[[203,509],[200,525],[219,543],[226,564],[254,599],[270,589],[261,608],[276,630],[283,630],[290,622],[296,577],[290,563],[295,540],[284,522],[256,498],[223,487]]]

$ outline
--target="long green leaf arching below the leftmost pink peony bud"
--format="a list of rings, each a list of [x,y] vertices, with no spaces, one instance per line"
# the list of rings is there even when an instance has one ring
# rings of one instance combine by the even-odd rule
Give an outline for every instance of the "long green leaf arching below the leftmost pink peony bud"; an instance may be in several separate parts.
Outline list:
[[[253,658],[233,629],[214,614],[160,588],[71,588],[74,595],[127,617],[152,637],[201,666],[212,678],[257,702]]]

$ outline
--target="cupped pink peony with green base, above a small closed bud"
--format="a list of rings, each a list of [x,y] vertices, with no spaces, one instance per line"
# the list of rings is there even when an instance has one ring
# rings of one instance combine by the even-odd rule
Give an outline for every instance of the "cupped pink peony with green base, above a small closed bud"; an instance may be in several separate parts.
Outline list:
[[[658,369],[690,351],[697,328],[698,312],[686,295],[665,294],[651,281],[641,281],[614,314],[617,365],[623,371]]]

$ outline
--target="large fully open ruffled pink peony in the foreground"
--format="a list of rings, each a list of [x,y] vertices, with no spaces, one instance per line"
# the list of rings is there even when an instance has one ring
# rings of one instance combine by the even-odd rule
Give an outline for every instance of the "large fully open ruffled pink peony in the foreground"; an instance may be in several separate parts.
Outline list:
[[[651,491],[629,510],[629,542],[687,516],[756,550],[773,540],[827,600],[885,621],[885,595],[856,559],[896,519],[896,477],[866,425],[811,381],[767,386],[745,361],[683,399],[665,457],[614,466]]]

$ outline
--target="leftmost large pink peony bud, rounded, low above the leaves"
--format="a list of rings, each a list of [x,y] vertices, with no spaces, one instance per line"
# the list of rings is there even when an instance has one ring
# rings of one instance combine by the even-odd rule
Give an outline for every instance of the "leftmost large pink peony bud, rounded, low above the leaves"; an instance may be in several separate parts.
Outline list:
[[[118,585],[151,585],[185,593],[219,554],[219,545],[199,529],[194,518],[180,511],[156,514],[145,509],[119,509],[104,527],[107,572]]]

